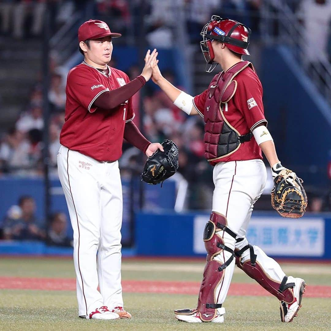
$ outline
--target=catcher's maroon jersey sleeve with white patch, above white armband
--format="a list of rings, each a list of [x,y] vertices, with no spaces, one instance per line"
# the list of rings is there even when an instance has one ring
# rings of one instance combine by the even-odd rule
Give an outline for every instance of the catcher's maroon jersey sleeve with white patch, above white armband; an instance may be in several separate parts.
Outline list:
[[[246,120],[252,132],[260,124],[267,125],[262,103],[262,85],[254,77],[238,81],[234,103]]]

